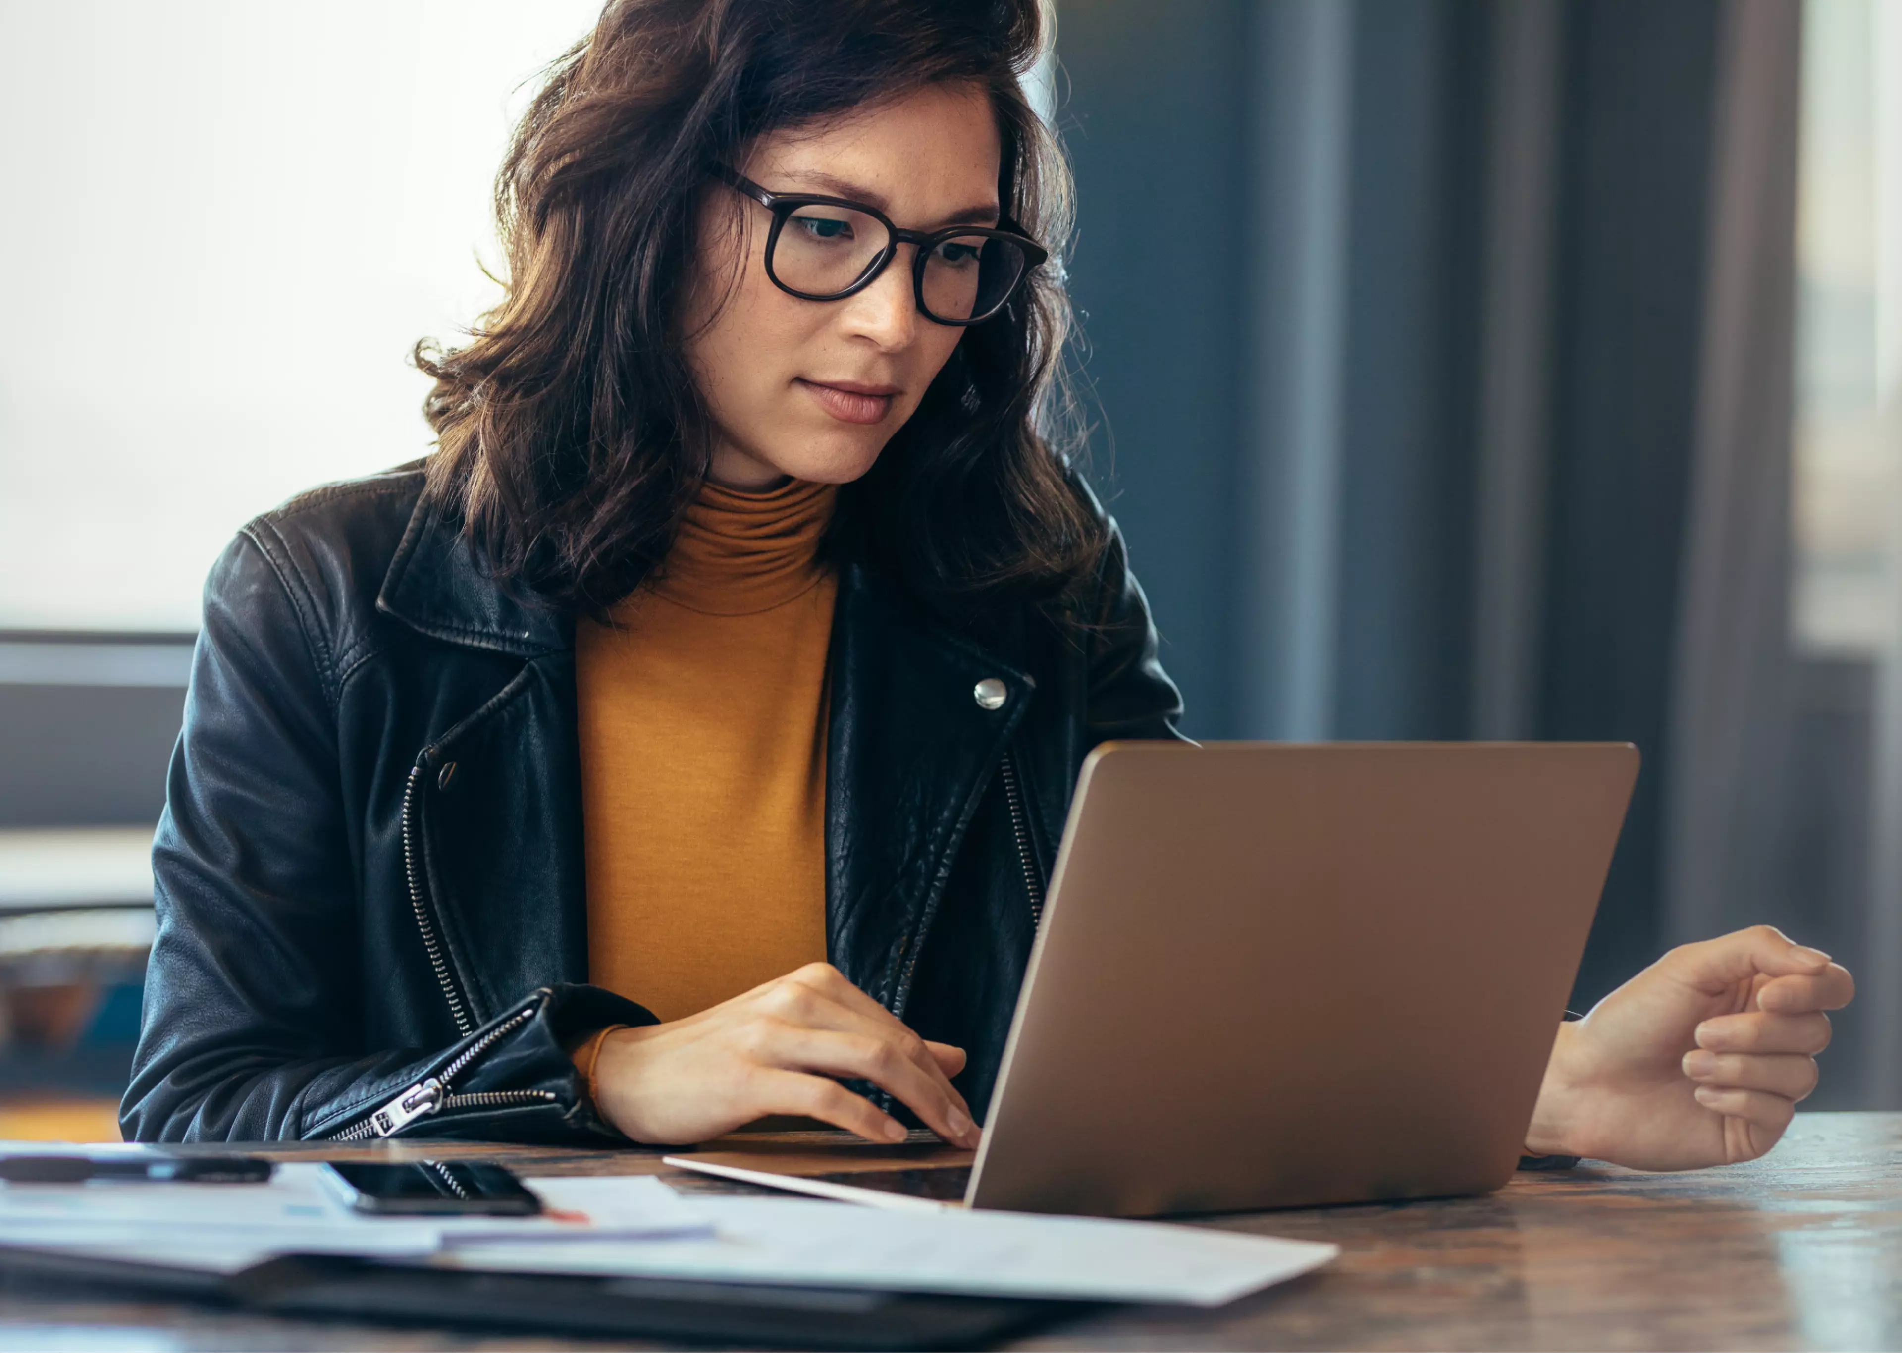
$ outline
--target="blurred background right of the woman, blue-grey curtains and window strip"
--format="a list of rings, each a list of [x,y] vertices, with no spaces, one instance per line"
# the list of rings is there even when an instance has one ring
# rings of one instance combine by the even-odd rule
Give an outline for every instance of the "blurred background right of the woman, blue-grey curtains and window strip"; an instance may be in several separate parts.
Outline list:
[[[1096,474],[1196,736],[1622,738],[1575,1005],[1773,921],[1902,1104],[1902,15],[1096,0]],[[1065,97],[1067,95],[1067,97]]]

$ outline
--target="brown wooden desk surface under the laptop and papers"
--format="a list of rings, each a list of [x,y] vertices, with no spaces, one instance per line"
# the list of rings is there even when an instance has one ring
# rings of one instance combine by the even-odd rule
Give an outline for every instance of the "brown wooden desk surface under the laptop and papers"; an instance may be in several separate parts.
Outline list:
[[[732,1159],[787,1165],[805,1138],[728,1138]],[[708,1147],[713,1153],[715,1147]],[[281,1157],[304,1155],[289,1147]],[[649,1153],[432,1147],[533,1174],[662,1172]],[[422,1155],[418,1147],[384,1149]],[[894,1149],[831,1146],[818,1168],[888,1167]],[[911,1165],[961,1163],[938,1146]],[[801,1157],[793,1157],[801,1159]],[[810,1163],[810,1155],[803,1157]],[[1870,1349],[1902,1347],[1902,1113],[1799,1115],[1756,1165],[1645,1176],[1619,1168],[1520,1174],[1484,1199],[1265,1212],[1240,1231],[1335,1241],[1322,1273],[1221,1311],[1109,1311],[1023,1349]],[[67,1328],[57,1328],[67,1326]],[[70,1326],[86,1326],[84,1334]],[[205,1309],[0,1296],[0,1345],[165,1349],[656,1347],[299,1324]]]

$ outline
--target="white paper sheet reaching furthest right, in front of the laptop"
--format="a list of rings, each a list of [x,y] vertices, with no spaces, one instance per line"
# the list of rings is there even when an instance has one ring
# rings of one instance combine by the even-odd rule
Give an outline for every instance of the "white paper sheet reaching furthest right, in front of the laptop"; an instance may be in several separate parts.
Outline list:
[[[468,1245],[436,1262],[534,1273],[1223,1305],[1339,1254],[1333,1245],[1158,1222],[881,1212],[799,1199],[690,1201],[711,1218],[717,1239]]]

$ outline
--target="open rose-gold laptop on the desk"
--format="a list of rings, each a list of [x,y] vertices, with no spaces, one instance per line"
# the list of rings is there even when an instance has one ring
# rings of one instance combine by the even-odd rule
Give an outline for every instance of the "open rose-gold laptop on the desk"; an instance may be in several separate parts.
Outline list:
[[[1099,746],[968,1180],[670,1161],[1084,1216],[1497,1189],[1636,776],[1630,744]]]

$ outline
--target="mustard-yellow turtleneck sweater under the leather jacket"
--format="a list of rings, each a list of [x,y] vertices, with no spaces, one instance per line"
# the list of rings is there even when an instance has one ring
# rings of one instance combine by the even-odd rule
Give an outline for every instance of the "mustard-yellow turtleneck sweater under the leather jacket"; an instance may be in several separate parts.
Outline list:
[[[574,636],[588,978],[677,1020],[825,959],[835,487],[708,483]]]

